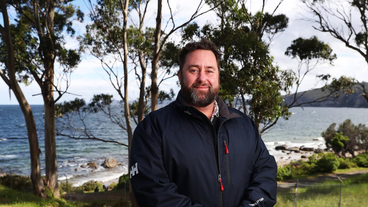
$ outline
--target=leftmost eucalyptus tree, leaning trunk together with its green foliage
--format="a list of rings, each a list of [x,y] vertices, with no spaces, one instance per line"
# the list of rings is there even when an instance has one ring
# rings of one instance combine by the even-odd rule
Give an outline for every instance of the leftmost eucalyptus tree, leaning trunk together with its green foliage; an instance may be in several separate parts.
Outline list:
[[[33,117],[31,106],[29,105],[25,95],[20,88],[18,82],[28,83],[28,78],[24,79],[21,77],[27,76],[27,69],[20,67],[17,62],[21,62],[29,54],[26,50],[25,44],[14,44],[13,42],[22,42],[23,39],[32,39],[31,35],[24,32],[22,27],[19,25],[11,24],[10,18],[7,11],[7,4],[5,0],[0,1],[1,13],[3,15],[3,25],[0,26],[1,32],[1,65],[4,67],[0,69],[0,76],[4,82],[13,91],[15,98],[22,109],[29,142],[29,152],[31,157],[31,180],[33,193],[45,198],[45,186],[41,178],[40,171],[40,149],[38,145],[38,136],[36,131],[35,118]],[[18,35],[14,35],[18,34]],[[17,55],[16,55],[17,54]],[[18,77],[17,77],[18,75]]]

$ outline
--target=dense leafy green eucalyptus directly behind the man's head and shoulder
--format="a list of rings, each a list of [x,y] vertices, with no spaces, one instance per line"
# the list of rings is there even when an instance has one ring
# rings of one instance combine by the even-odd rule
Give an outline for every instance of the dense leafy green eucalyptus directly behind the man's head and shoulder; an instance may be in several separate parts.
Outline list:
[[[216,2],[216,0],[208,1],[209,4]],[[242,109],[254,119],[260,133],[270,129],[280,118],[288,119],[289,108],[307,103],[297,102],[299,97],[296,93],[305,75],[312,70],[309,64],[316,61],[317,65],[322,60],[332,62],[335,58],[328,45],[312,38],[314,46],[322,45],[322,47],[312,48],[313,45],[310,45],[308,50],[307,40],[296,42],[296,47],[301,47],[304,49],[301,52],[311,57],[310,59],[301,57],[297,73],[293,70],[279,69],[269,52],[269,45],[279,35],[278,33],[287,28],[289,19],[286,15],[276,14],[282,2],[279,1],[272,13],[267,13],[264,11],[265,1],[263,1],[261,10],[252,14],[245,1],[228,0],[214,10],[220,24],[205,24],[201,28],[192,23],[182,30],[183,43],[206,38],[219,46],[223,52],[220,60],[220,96],[230,106]],[[292,46],[290,50],[294,49]],[[301,69],[304,63],[307,63],[306,70]],[[330,76],[322,75],[321,78],[326,81]],[[347,79],[339,80],[349,82]],[[344,84],[344,87],[338,86],[339,80],[335,79],[332,85],[325,85],[324,89],[328,94],[316,98],[314,102],[326,101],[327,97],[335,95],[336,90],[351,86],[348,83]],[[284,95],[291,94],[293,85],[297,85],[294,101],[287,105],[284,103]]]

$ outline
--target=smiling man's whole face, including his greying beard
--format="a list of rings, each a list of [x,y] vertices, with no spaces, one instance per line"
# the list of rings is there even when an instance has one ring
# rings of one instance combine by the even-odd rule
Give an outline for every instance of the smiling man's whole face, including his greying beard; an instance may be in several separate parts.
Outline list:
[[[219,93],[219,69],[210,50],[194,50],[187,54],[183,70],[178,72],[181,92],[189,104],[205,107]]]

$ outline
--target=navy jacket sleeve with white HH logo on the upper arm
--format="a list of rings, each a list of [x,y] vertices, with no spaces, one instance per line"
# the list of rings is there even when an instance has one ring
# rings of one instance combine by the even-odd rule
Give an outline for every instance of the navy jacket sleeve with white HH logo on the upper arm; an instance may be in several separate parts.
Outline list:
[[[134,130],[130,152],[130,182],[139,207],[203,207],[178,194],[163,166],[161,136],[146,117]]]

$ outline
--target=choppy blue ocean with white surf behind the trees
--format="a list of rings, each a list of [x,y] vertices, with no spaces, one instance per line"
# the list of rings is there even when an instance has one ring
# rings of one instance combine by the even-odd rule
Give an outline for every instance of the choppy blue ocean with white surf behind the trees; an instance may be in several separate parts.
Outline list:
[[[45,174],[45,149],[43,133],[43,105],[31,105],[38,132],[41,173]],[[120,112],[120,109],[115,109]],[[325,148],[321,133],[332,123],[340,124],[351,119],[354,124],[368,126],[367,108],[291,108],[289,120],[279,120],[277,124],[262,134],[271,155],[276,160],[283,158],[277,145],[288,147]],[[58,122],[57,122],[58,123]],[[86,118],[86,128],[98,138],[127,143],[127,133],[101,112]],[[60,124],[60,123],[58,123]],[[132,120],[133,128],[135,128]],[[70,133],[70,132],[69,132]],[[118,178],[128,172],[128,150],[123,145],[104,143],[97,140],[74,140],[68,137],[56,137],[57,165],[59,180],[68,178],[68,182],[78,186],[88,180],[105,182]],[[24,116],[18,105],[0,105],[0,173],[9,172],[30,175],[29,143]],[[116,159],[121,166],[105,169],[101,164],[107,157]],[[81,168],[88,162],[99,164],[98,169]]]

